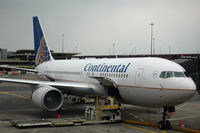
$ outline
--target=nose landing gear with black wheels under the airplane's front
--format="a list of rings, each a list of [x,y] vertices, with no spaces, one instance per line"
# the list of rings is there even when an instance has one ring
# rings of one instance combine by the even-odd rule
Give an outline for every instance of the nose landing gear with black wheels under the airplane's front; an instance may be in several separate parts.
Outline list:
[[[171,129],[171,124],[167,120],[167,118],[169,118],[168,112],[175,112],[175,108],[174,107],[164,107],[162,121],[159,121],[159,123],[158,123],[158,127],[161,130]]]

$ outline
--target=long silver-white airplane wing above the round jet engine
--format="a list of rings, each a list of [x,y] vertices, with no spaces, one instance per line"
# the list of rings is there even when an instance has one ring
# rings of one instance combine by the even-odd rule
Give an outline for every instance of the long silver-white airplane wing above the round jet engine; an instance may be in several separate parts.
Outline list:
[[[90,95],[94,94],[95,85],[84,82],[52,82],[52,81],[39,81],[39,80],[25,80],[25,79],[11,79],[0,78],[0,82],[27,84],[30,86],[52,86],[64,92],[71,94]]]

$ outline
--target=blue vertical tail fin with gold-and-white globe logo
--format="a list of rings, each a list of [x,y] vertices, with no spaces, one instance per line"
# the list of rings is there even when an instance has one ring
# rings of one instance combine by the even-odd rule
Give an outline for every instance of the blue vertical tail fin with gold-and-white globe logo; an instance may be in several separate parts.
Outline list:
[[[34,30],[34,46],[35,46],[35,65],[52,59],[50,50],[45,41],[42,28],[39,23],[38,17],[33,17],[33,30]]]

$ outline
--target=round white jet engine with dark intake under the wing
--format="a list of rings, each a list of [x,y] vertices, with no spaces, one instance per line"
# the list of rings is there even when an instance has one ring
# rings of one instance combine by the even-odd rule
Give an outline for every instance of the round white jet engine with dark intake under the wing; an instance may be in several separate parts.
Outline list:
[[[62,107],[64,97],[60,90],[51,86],[43,86],[33,92],[32,101],[42,109],[56,111]]]

